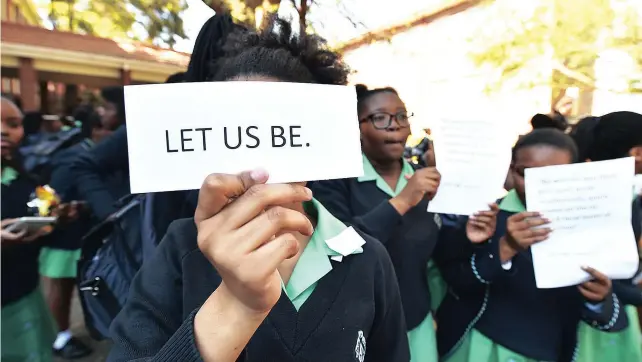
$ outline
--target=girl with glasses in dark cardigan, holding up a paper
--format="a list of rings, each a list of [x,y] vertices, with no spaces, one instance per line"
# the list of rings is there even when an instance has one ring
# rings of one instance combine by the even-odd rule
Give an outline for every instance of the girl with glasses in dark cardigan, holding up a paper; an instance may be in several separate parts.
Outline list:
[[[436,361],[427,268],[441,220],[427,212],[439,187],[434,167],[415,170],[403,158],[409,114],[393,88],[357,86],[364,175],[311,184],[339,220],[380,240],[401,290],[412,361]]]

